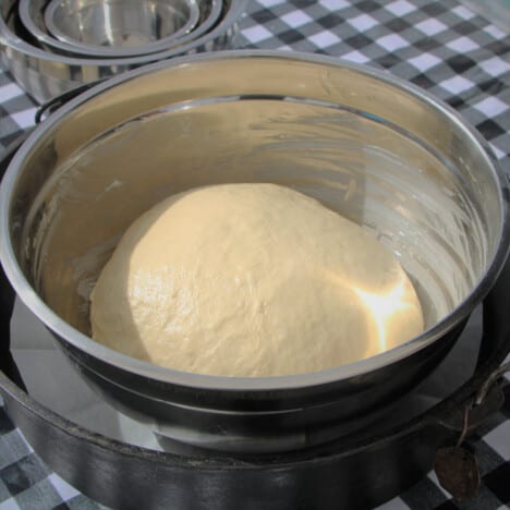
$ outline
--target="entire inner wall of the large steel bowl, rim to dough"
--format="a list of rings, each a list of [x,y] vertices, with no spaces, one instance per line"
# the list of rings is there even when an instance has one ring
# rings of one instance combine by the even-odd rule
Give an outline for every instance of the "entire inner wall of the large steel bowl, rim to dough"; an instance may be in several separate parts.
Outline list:
[[[84,332],[90,288],[122,232],[193,186],[280,183],[365,226],[413,279],[427,326],[483,277],[502,222],[488,158],[448,112],[360,70],[281,57],[130,77],[73,107],[23,165],[16,256]]]

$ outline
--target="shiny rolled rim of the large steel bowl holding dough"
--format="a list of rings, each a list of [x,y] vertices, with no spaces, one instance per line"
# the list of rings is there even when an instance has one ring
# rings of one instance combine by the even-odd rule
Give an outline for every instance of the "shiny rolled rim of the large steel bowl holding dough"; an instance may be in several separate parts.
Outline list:
[[[204,375],[196,373],[182,372],[154,365],[130,357],[125,354],[109,349],[86,335],[82,333],[65,320],[60,318],[45,302],[38,296],[36,291],[26,280],[17,260],[10,239],[10,209],[12,191],[16,184],[23,161],[37,146],[39,138],[65,120],[65,116],[102,92],[135,80],[138,76],[157,72],[168,68],[186,66],[198,62],[214,62],[232,59],[286,59],[300,62],[316,63],[335,68],[343,68],[354,71],[369,77],[384,81],[386,84],[394,86],[410,96],[426,102],[428,106],[437,109],[442,116],[452,120],[463,133],[471,138],[481,149],[487,167],[490,170],[494,181],[498,184],[499,209],[501,211],[501,224],[498,233],[496,252],[490,260],[487,262],[486,270],[472,291],[462,300],[456,308],[446,317],[425,330],[420,336],[380,354],[361,360],[351,364],[340,365],[332,368],[326,368],[318,372],[270,376],[270,377],[230,377],[217,375]],[[123,73],[107,82],[90,88],[78,95],[76,98],[61,107],[57,112],[50,116],[45,122],[38,125],[23,143],[21,148],[13,157],[0,185],[0,262],[3,265],[5,275],[10,280],[16,294],[25,305],[34,313],[38,319],[46,325],[53,333],[63,341],[69,342],[80,351],[100,360],[104,363],[111,364],[124,372],[137,376],[146,377],[163,384],[172,384],[183,387],[221,390],[221,391],[274,391],[292,390],[303,387],[327,385],[338,382],[352,377],[366,375],[393,364],[411,354],[421,351],[435,341],[440,341],[441,337],[454,328],[463,318],[467,317],[473,308],[482,302],[488,291],[495,283],[500,270],[509,254],[510,241],[510,199],[506,174],[500,169],[496,156],[490,146],[482,135],[475,131],[464,119],[460,117],[451,107],[432,94],[420,87],[396,77],[387,72],[369,68],[367,65],[352,63],[342,59],[317,56],[313,53],[303,53],[282,50],[230,50],[215,53],[198,53],[185,56],[171,61],[157,62],[151,65],[138,68],[136,70]]]

